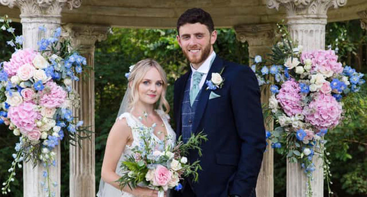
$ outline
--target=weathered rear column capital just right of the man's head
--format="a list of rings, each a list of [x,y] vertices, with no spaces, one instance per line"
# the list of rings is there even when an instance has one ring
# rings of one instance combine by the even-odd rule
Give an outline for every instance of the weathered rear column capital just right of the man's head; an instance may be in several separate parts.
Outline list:
[[[249,46],[272,45],[275,24],[241,24],[235,26],[236,37]]]

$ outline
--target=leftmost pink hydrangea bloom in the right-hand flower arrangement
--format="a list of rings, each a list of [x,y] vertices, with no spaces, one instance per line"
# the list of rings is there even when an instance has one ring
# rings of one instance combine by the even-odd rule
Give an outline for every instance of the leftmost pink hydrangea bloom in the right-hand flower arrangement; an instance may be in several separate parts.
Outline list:
[[[279,94],[276,95],[282,109],[288,116],[302,113],[301,88],[294,80],[288,80],[281,85]]]

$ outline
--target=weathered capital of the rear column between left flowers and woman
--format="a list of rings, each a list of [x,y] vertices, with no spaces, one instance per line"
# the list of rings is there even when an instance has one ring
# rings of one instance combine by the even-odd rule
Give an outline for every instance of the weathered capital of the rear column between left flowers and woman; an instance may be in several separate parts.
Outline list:
[[[107,38],[108,26],[91,24],[68,23],[62,26],[62,37],[70,39],[72,45],[81,50],[93,50],[96,41]]]

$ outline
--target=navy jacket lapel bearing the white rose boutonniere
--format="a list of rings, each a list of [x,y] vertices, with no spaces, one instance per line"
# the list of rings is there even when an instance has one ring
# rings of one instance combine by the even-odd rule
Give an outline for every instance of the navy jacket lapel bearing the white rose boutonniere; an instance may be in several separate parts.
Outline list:
[[[223,60],[221,58],[218,57],[218,55],[215,57],[210,70],[208,72],[208,75],[206,77],[206,80],[210,80],[211,79],[211,73],[213,72],[221,72],[222,68],[224,67],[223,65]],[[194,117],[194,121],[192,123],[192,131],[193,133],[197,133],[200,132],[197,130],[197,128],[199,127],[199,123],[201,121],[201,118],[203,117],[204,111],[206,109],[207,106],[207,102],[209,99],[209,95],[211,90],[206,90],[207,88],[207,84],[204,83],[203,87],[201,88],[201,92],[199,94],[199,101],[197,102],[196,105],[196,111],[195,111],[195,117]]]

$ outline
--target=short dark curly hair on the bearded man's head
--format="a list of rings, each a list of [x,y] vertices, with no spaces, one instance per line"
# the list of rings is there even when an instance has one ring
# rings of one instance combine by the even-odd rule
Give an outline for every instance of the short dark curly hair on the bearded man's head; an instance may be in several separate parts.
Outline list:
[[[211,16],[208,12],[204,11],[201,8],[191,8],[186,10],[181,14],[181,16],[177,20],[177,33],[179,34],[178,29],[186,24],[186,23],[201,23],[207,26],[210,33],[214,31],[214,23],[211,19]]]

